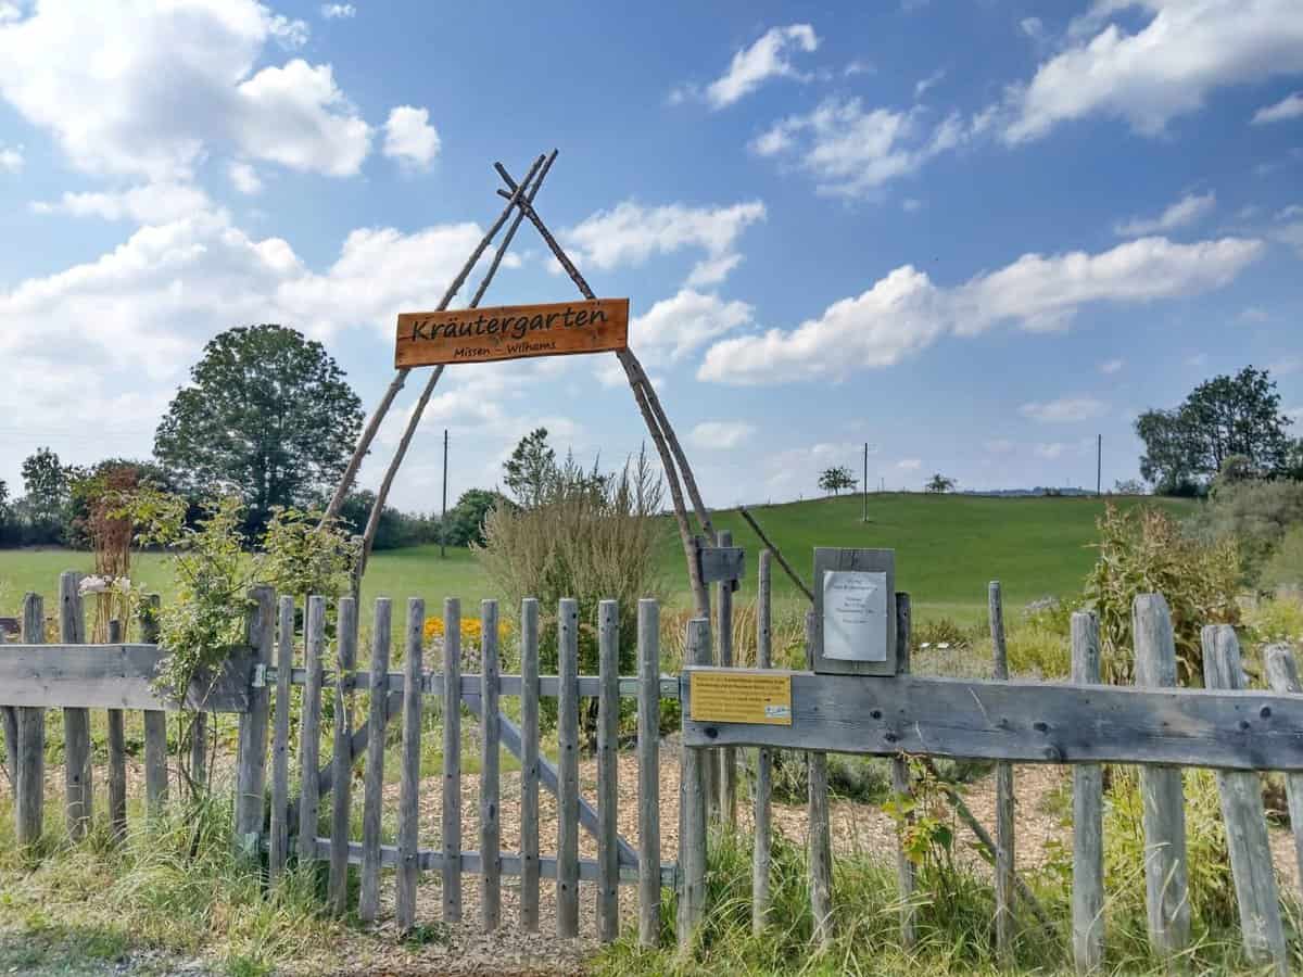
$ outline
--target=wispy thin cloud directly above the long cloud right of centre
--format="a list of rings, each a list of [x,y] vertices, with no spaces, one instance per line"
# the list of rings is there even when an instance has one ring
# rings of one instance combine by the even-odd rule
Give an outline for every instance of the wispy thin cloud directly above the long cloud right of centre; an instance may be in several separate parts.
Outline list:
[[[761,156],[792,156],[814,177],[820,193],[865,197],[973,134],[958,116],[936,126],[925,125],[924,116],[919,108],[865,112],[857,98],[830,98],[808,115],[779,120],[752,141],[751,150]]]

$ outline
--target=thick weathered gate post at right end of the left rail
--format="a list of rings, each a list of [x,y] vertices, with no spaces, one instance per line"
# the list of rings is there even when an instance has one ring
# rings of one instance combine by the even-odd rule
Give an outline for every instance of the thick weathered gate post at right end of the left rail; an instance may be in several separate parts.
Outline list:
[[[249,590],[253,608],[246,623],[254,664],[271,664],[276,645],[276,591],[268,586]],[[267,720],[271,718],[271,692],[267,683],[249,696],[249,711],[240,715],[236,744],[236,843],[245,855],[259,857],[263,826],[263,795],[267,788]]]

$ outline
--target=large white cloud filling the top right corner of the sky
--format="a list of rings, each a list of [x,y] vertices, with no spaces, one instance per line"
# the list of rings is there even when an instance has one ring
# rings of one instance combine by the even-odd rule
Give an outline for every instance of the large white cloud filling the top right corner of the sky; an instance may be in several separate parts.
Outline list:
[[[1136,33],[1114,14],[1140,10]],[[1009,142],[1091,115],[1145,135],[1204,106],[1209,92],[1303,70],[1298,0],[1098,0],[1067,46],[1010,91]]]

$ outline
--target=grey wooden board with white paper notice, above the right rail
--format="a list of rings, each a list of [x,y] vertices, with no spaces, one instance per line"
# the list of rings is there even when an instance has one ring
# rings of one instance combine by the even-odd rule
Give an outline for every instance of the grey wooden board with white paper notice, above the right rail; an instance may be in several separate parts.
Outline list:
[[[814,550],[814,671],[895,675],[895,551]]]

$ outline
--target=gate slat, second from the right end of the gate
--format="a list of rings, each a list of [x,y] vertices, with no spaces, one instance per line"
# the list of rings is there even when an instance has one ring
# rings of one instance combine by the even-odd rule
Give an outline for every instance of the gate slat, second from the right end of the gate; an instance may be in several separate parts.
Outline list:
[[[597,935],[614,943],[620,929],[619,767],[620,610],[615,601],[597,608]]]

